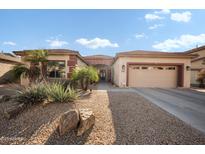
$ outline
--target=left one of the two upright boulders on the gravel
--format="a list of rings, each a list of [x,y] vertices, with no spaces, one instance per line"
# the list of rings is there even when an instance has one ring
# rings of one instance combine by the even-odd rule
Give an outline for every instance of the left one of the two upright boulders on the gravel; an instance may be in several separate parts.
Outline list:
[[[77,128],[79,123],[79,112],[76,109],[65,112],[60,117],[59,134],[62,136],[72,129]]]

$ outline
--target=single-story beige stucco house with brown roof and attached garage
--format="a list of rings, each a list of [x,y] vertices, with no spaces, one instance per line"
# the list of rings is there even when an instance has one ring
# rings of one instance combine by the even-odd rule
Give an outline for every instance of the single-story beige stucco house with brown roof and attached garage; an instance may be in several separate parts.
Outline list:
[[[28,50],[14,51],[24,58]],[[93,55],[82,57],[78,51],[48,50],[48,78],[69,79],[76,66],[94,66],[101,80],[111,81],[119,87],[190,87],[193,52],[128,51],[110,57]],[[202,55],[203,57],[203,55]],[[201,58],[201,57],[199,57]],[[56,69],[52,65],[58,63]]]

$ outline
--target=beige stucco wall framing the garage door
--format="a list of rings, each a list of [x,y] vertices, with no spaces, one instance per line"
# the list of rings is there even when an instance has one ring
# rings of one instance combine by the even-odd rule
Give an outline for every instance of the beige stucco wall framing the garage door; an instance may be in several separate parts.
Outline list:
[[[114,82],[120,87],[125,87],[127,82],[127,63],[183,63],[184,64],[184,87],[190,87],[191,71],[186,70],[186,66],[191,66],[189,58],[143,58],[143,57],[119,57],[113,64]],[[125,65],[125,71],[121,71],[122,65]],[[148,76],[150,78],[150,76]],[[151,78],[150,78],[151,79]]]

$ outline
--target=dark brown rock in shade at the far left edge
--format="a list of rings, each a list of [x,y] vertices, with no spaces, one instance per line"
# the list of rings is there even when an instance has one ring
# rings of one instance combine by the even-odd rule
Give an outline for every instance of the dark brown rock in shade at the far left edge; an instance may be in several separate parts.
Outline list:
[[[13,106],[7,108],[4,111],[4,117],[6,117],[8,119],[16,117],[16,115],[18,115],[19,112],[23,111],[24,108],[25,108],[25,104],[14,103]]]

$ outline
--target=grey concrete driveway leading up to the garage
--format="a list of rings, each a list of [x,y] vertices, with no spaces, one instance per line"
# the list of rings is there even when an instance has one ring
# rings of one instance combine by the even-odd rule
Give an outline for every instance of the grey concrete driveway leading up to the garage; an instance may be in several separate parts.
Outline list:
[[[135,88],[135,91],[205,133],[205,93],[191,89]]]

